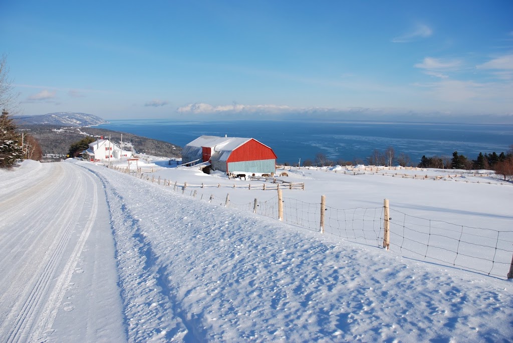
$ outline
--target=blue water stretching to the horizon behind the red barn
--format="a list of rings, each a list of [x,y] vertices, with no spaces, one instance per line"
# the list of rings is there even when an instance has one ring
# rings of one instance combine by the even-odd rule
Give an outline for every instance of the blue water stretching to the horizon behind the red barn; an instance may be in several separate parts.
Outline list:
[[[201,135],[252,137],[271,147],[278,162],[297,163],[321,152],[332,160],[365,158],[391,146],[418,163],[422,155],[476,159],[482,153],[506,152],[513,144],[512,125],[308,122],[290,120],[111,120],[101,128],[164,140],[181,147]]]

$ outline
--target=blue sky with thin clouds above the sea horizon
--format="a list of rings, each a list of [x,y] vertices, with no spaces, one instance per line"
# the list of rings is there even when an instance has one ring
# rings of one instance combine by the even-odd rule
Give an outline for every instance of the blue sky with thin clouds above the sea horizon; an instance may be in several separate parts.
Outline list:
[[[513,123],[513,2],[14,1],[23,114],[359,111]]]

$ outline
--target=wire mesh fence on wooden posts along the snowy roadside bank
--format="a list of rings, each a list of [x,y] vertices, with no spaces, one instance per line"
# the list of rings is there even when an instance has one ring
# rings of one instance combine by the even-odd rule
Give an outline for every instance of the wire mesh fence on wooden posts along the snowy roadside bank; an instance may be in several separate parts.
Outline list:
[[[255,198],[238,203],[230,200],[229,193],[225,198],[170,180],[149,176],[143,179],[215,205],[280,219],[355,243],[385,246],[385,207],[338,209],[326,206],[322,199],[321,203],[307,203],[282,197],[280,189],[278,195],[265,201]],[[513,278],[513,231],[469,227],[413,216],[393,208],[387,210],[391,252],[498,278],[504,278],[509,268],[508,278]]]

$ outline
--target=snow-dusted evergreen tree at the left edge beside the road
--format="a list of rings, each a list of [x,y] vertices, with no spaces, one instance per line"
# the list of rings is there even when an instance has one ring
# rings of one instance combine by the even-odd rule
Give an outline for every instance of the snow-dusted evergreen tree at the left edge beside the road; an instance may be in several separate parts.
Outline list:
[[[7,111],[0,116],[0,168],[11,168],[23,160],[21,137]]]

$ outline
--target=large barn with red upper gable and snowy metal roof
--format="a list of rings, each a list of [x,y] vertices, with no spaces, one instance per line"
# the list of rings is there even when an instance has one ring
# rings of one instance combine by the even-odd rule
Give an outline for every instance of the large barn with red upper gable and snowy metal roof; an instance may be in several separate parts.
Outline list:
[[[227,174],[271,174],[276,171],[276,154],[254,138],[201,136],[182,150],[182,163],[205,163],[205,172]]]

